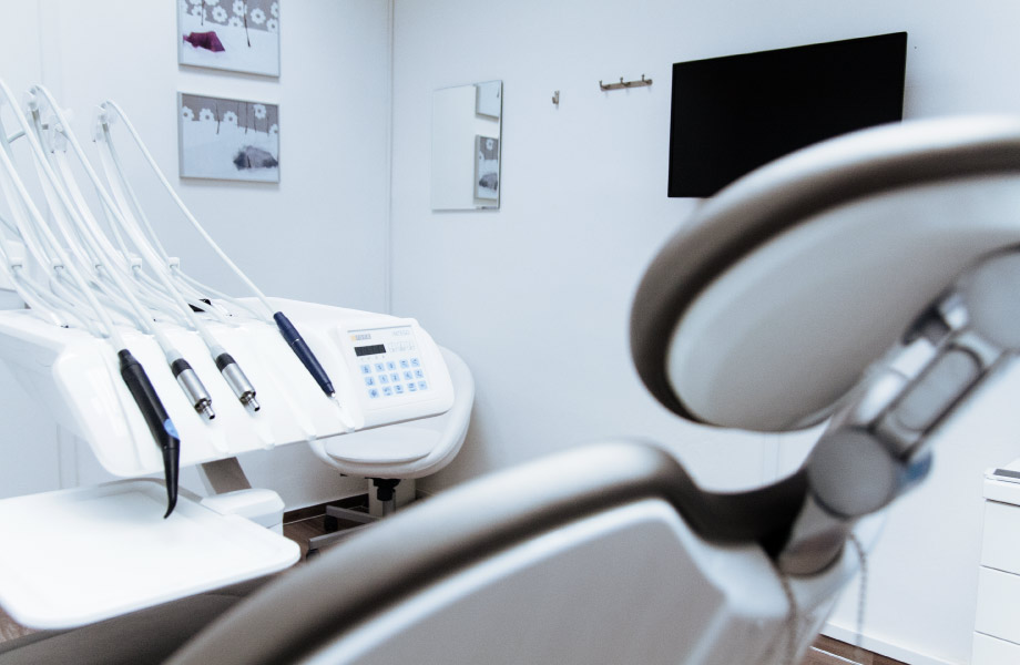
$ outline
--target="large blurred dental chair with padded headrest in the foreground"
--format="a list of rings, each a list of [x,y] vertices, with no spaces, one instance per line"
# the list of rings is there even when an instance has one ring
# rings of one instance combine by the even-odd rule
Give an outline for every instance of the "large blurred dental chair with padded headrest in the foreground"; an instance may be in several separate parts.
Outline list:
[[[906,123],[779,160],[667,242],[631,340],[680,417],[769,432],[828,419],[797,472],[721,494],[650,442],[573,449],[401,511],[210,625],[169,625],[160,648],[152,631],[84,628],[80,654],[796,663],[942,423],[1020,348],[1018,246],[1018,121]],[[8,649],[0,663],[28,662]]]

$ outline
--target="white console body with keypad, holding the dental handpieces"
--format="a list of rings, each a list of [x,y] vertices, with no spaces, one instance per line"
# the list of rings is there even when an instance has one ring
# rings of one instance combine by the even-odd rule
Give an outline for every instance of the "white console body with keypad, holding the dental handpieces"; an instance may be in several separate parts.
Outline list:
[[[180,436],[182,468],[435,416],[452,406],[439,347],[414,319],[282,299],[274,304],[302,328],[333,378],[334,398],[323,393],[274,327],[244,317],[236,325],[211,323],[255,386],[259,409],[246,409],[220,380],[198,335],[167,328],[212,393],[216,417],[205,420],[177,389],[153,338],[124,329]],[[134,478],[163,469],[160,448],[120,378],[108,340],[54,326],[30,310],[0,311],[0,359],[62,427],[89,443],[108,471]]]

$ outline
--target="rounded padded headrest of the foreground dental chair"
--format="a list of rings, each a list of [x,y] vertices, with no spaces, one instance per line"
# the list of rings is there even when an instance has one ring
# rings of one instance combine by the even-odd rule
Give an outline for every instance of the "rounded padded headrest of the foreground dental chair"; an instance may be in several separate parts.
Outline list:
[[[690,420],[830,415],[979,257],[1020,244],[1020,119],[911,121],[768,164],[705,202],[645,273],[631,351]]]

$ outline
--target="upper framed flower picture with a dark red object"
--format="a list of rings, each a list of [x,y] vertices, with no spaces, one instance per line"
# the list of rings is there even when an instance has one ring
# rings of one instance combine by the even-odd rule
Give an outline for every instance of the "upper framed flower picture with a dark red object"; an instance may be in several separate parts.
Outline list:
[[[176,0],[177,62],[279,75],[280,0]]]

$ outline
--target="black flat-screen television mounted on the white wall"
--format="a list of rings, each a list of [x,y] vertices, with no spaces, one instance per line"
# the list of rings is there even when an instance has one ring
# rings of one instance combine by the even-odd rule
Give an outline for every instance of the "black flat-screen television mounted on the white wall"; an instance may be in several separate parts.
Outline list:
[[[902,120],[907,33],[673,65],[670,196],[712,196],[776,157]]]

